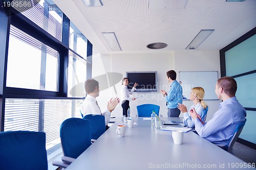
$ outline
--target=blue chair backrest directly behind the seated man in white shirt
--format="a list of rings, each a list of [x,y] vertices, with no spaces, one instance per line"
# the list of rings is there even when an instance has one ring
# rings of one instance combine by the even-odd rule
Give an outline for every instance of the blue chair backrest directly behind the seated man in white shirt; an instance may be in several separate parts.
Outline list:
[[[92,139],[98,139],[106,131],[105,116],[87,114],[83,118],[90,120]]]

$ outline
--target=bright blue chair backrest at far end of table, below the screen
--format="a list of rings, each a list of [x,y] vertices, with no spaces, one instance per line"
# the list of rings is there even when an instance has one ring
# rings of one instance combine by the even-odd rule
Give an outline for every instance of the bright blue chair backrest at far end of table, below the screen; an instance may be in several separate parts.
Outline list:
[[[153,110],[159,116],[160,106],[154,104],[139,105],[137,106],[138,117],[151,117]]]

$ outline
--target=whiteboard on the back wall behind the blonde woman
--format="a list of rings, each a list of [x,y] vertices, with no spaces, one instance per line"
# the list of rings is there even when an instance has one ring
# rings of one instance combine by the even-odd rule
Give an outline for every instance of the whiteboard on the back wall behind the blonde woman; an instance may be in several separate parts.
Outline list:
[[[189,99],[193,87],[204,89],[204,100],[218,100],[215,93],[218,71],[180,71],[179,78],[183,89],[183,100]]]

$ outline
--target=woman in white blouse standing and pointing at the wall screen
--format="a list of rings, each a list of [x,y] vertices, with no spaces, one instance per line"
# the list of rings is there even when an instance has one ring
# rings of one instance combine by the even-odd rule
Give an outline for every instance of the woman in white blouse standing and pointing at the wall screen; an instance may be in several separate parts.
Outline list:
[[[130,94],[133,94],[134,90],[136,90],[136,86],[138,83],[134,83],[134,86],[131,91],[128,90],[127,86],[129,85],[129,80],[128,78],[123,78],[122,79],[122,87],[121,87],[121,100],[122,100],[122,108],[123,108],[123,115],[127,117],[127,110],[130,108],[129,103],[130,101],[134,101],[137,98],[130,98]]]

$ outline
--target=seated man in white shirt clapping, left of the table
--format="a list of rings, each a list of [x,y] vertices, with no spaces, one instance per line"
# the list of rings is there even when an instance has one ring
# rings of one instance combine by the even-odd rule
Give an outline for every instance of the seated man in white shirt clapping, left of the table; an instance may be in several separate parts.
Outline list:
[[[84,83],[84,89],[86,90],[87,96],[84,99],[83,104],[80,106],[80,111],[83,115],[87,114],[99,114],[105,116],[105,125],[107,126],[110,122],[111,112],[116,108],[119,103],[119,98],[111,99],[106,107],[108,108],[105,112],[101,112],[98,103],[97,96],[99,96],[99,82],[94,79],[88,79]]]

